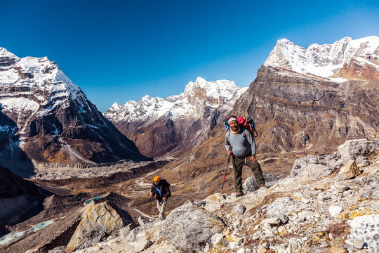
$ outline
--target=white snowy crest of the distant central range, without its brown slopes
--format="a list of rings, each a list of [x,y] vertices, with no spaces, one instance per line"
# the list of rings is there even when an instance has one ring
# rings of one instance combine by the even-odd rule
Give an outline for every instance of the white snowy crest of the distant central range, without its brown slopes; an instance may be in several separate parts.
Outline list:
[[[189,82],[185,91],[168,98],[144,96],[137,102],[131,100],[124,105],[112,105],[105,117],[112,122],[135,122],[140,120],[149,124],[162,116],[172,115],[171,119],[197,118],[204,113],[204,108],[224,106],[232,108],[234,102],[246,91],[228,80],[208,82],[197,77]]]

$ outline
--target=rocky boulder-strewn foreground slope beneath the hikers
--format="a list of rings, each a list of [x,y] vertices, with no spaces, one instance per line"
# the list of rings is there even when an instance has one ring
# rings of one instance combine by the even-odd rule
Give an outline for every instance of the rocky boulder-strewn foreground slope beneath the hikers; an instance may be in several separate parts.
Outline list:
[[[139,226],[93,200],[68,244],[27,252],[379,252],[379,139],[302,157],[267,184],[246,179],[243,197],[217,193]]]

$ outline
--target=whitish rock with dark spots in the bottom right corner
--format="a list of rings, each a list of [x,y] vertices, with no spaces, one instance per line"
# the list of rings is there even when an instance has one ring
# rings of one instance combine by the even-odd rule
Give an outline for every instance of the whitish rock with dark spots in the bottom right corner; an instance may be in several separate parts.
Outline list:
[[[368,249],[379,250],[379,214],[358,216],[350,223],[352,240],[363,240]]]

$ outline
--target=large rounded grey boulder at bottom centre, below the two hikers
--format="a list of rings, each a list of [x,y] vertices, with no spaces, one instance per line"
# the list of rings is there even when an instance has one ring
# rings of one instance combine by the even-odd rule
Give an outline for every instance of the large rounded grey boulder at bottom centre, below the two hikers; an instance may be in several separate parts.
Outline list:
[[[212,236],[224,228],[217,216],[187,202],[167,216],[159,235],[184,252],[199,252],[201,245],[211,243]]]

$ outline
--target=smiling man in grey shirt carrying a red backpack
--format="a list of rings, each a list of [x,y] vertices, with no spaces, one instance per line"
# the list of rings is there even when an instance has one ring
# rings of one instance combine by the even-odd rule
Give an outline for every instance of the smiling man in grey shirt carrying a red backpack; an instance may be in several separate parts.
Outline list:
[[[242,167],[244,164],[251,168],[254,173],[255,181],[258,188],[267,188],[265,186],[265,178],[260,169],[260,164],[255,157],[255,141],[252,136],[251,126],[246,124],[245,118],[239,119],[232,116],[227,120],[228,131],[225,134],[225,148],[227,155],[232,157],[232,164],[234,169],[234,186],[236,187],[236,197],[244,195],[242,192]],[[250,127],[250,129],[249,129]]]

